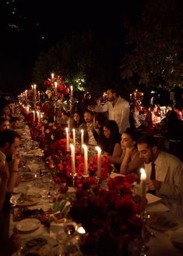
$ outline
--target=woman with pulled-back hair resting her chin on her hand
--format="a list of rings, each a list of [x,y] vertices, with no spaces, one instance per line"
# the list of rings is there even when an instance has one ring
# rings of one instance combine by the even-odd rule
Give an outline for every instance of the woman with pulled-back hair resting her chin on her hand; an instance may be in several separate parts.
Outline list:
[[[143,159],[139,157],[137,135],[132,128],[127,128],[121,135],[121,149],[121,174],[134,172],[138,175],[139,168],[143,167]]]

